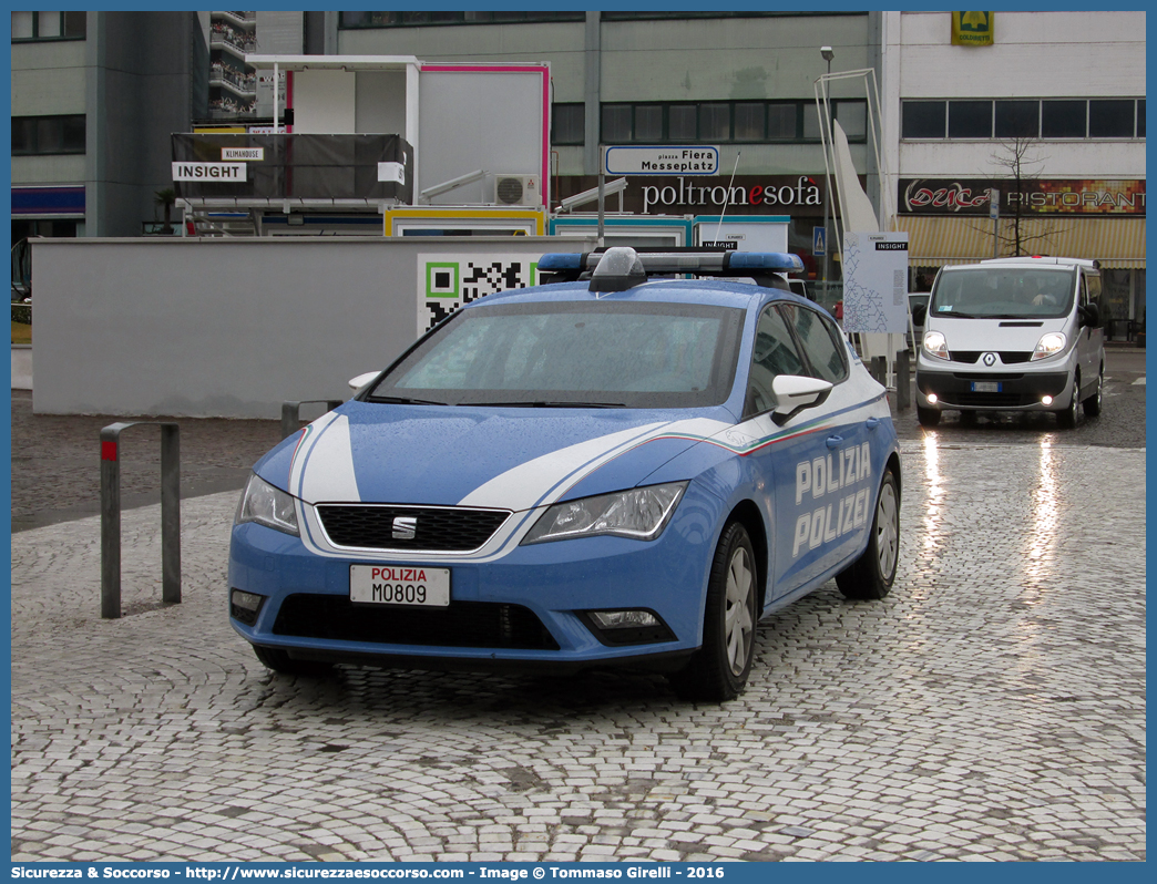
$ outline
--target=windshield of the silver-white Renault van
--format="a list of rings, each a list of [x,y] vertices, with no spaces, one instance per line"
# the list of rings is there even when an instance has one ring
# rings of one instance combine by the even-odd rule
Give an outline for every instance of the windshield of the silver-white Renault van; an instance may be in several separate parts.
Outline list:
[[[968,267],[941,273],[929,316],[1038,319],[1073,308],[1073,271],[1039,267]]]

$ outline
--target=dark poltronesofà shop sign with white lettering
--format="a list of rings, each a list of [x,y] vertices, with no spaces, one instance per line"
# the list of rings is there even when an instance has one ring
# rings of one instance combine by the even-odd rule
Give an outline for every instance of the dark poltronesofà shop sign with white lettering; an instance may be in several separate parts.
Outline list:
[[[594,176],[562,176],[559,199],[596,186]],[[607,209],[618,209],[618,196],[606,198]],[[642,215],[809,215],[824,214],[824,176],[737,175],[695,178],[687,176],[627,176],[622,208]],[[581,212],[594,212],[587,202]]]

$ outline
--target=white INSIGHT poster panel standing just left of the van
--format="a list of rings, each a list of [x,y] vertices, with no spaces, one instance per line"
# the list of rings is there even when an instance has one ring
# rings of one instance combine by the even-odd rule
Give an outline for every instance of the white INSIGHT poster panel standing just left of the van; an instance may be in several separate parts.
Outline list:
[[[908,234],[843,234],[843,330],[908,330]]]

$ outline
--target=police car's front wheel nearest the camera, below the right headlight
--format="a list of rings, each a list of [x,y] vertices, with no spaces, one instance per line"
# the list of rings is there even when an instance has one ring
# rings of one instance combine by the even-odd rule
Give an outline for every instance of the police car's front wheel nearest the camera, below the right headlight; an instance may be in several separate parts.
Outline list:
[[[746,529],[731,522],[723,529],[703,612],[703,644],[687,665],[668,678],[684,700],[734,700],[747,684],[756,656],[759,573]]]

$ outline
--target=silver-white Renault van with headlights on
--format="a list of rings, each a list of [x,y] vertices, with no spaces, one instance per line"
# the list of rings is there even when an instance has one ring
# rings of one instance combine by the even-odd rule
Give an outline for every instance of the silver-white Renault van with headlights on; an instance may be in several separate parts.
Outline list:
[[[915,318],[915,317],[914,317]],[[1100,273],[1078,258],[998,258],[943,267],[916,355],[916,414],[1052,411],[1074,427],[1100,413]]]

